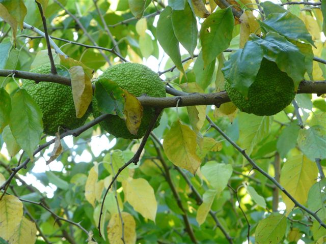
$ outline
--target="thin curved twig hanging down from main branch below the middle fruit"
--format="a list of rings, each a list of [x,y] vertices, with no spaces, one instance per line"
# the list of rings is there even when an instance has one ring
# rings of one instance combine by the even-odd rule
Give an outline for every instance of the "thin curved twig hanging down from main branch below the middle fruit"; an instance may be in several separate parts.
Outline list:
[[[103,206],[104,206],[106,195],[107,195],[108,191],[110,190],[110,188],[112,187],[115,180],[118,178],[119,174],[122,172],[122,170],[124,170],[126,167],[128,167],[131,163],[134,163],[135,165],[137,165],[137,163],[139,161],[139,158],[141,156],[141,153],[142,153],[142,151],[143,151],[143,149],[145,147],[145,144],[147,142],[147,139],[148,139],[151,131],[153,130],[154,125],[156,123],[156,120],[159,117],[161,111],[162,111],[161,109],[155,109],[155,115],[152,118],[151,123],[147,128],[147,131],[146,131],[146,133],[145,133],[145,135],[143,137],[143,140],[142,140],[141,144],[139,145],[138,150],[136,151],[136,153],[133,155],[133,157],[127,163],[125,163],[123,166],[121,166],[118,169],[118,172],[114,175],[110,185],[108,185],[108,187],[107,187],[107,189],[105,191],[105,194],[104,194],[104,197],[103,197],[103,200],[102,200],[102,204],[101,204],[100,216],[99,216],[98,226],[97,226],[97,229],[99,231],[100,236],[102,236],[100,226],[101,226],[101,217],[102,217],[102,214],[103,214]]]

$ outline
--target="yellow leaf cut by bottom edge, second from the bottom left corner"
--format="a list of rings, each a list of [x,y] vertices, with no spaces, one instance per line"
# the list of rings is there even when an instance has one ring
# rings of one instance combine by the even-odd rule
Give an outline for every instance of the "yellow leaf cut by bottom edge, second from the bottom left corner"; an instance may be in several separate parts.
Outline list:
[[[34,244],[36,241],[35,223],[22,217],[13,235],[9,238],[9,243]]]

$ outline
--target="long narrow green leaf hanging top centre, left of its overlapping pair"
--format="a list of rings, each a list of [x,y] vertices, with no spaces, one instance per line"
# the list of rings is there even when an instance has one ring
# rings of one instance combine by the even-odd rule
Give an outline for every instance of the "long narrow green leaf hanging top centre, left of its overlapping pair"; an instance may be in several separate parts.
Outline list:
[[[164,51],[171,57],[173,63],[184,75],[184,69],[181,62],[179,42],[174,34],[171,20],[172,9],[166,7],[159,15],[156,28],[156,36],[159,44]]]

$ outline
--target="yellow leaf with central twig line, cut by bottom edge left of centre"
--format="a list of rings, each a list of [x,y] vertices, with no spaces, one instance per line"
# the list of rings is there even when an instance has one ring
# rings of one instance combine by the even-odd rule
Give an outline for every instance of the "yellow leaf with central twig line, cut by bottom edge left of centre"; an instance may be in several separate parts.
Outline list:
[[[121,212],[124,228],[124,241],[126,244],[132,244],[136,242],[136,223],[133,217],[127,212]],[[112,216],[107,226],[107,238],[110,243],[123,244],[121,240],[122,236],[122,223],[119,214]]]

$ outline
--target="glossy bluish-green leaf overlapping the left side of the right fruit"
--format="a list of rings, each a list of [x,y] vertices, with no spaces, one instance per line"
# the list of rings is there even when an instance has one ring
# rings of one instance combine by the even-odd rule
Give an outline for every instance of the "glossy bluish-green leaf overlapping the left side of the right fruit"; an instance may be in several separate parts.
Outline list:
[[[224,63],[224,78],[245,97],[249,87],[254,83],[263,58],[262,48],[253,41],[248,41],[243,49],[232,53]]]

